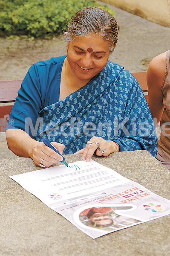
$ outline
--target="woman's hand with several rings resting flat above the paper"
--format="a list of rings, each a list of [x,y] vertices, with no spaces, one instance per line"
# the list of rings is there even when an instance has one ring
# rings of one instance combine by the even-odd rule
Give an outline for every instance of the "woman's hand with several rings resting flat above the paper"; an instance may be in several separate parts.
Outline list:
[[[95,151],[97,156],[107,157],[109,154],[118,151],[118,145],[112,140],[104,140],[101,137],[94,136],[87,142],[85,148],[74,154],[82,154],[81,160],[89,162]]]

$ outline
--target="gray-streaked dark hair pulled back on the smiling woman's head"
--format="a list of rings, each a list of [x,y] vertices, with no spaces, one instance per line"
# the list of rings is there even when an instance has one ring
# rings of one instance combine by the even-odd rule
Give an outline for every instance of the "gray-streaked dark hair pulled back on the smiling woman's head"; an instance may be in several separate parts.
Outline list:
[[[107,40],[109,51],[112,53],[118,40],[118,25],[115,18],[98,7],[80,9],[68,25],[66,42],[69,44],[75,37],[88,35],[100,35],[103,40]]]

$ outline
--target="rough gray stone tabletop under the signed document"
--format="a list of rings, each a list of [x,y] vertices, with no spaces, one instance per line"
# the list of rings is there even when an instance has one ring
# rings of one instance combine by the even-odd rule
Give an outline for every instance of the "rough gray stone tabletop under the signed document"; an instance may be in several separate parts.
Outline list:
[[[147,151],[92,159],[170,199],[170,172]],[[68,163],[78,160],[66,155]],[[37,169],[29,158],[0,160],[0,255],[169,256],[170,215],[91,239],[9,178]]]

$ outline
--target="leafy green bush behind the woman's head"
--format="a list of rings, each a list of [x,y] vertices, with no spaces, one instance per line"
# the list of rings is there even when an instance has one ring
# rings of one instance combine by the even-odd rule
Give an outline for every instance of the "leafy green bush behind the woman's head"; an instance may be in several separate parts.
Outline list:
[[[61,35],[70,18],[86,6],[98,6],[114,15],[94,0],[0,0],[0,36]]]

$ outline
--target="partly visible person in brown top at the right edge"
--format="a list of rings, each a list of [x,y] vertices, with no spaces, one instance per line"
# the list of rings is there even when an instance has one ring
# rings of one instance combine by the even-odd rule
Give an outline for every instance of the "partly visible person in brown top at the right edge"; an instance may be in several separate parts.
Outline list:
[[[161,125],[156,158],[170,170],[170,50],[150,62],[147,84],[150,111],[155,125]]]

